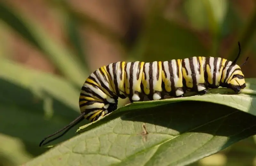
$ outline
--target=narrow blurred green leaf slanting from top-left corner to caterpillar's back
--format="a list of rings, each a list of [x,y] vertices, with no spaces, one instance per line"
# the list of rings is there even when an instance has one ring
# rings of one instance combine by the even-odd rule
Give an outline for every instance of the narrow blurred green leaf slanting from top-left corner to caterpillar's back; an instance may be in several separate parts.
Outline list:
[[[68,80],[81,87],[88,73],[69,50],[55,42],[35,22],[28,20],[24,13],[18,13],[16,9],[8,8],[2,2],[0,2],[0,19],[42,51]]]

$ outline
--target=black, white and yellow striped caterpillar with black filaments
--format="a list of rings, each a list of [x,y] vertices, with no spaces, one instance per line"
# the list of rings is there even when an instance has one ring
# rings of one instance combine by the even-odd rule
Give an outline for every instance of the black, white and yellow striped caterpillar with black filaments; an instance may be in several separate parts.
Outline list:
[[[191,57],[163,62],[116,62],[100,67],[82,86],[79,97],[81,115],[63,129],[45,137],[39,146],[45,139],[84,118],[93,122],[116,110],[118,97],[128,97],[131,102],[143,101],[144,95],[149,100],[159,100],[164,95],[183,97],[186,90],[205,94],[208,88],[219,86],[239,93],[246,85],[244,74],[236,65],[241,53],[239,42],[238,46],[239,52],[233,62],[218,57]]]

